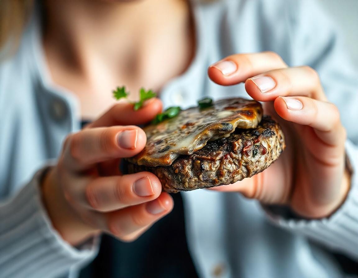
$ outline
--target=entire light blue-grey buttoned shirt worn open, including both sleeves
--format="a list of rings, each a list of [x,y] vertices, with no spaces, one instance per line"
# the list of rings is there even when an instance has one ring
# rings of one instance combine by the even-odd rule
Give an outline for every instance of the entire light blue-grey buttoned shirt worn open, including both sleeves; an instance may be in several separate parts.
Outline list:
[[[242,84],[211,82],[208,65],[234,53],[275,51],[289,66],[318,71],[348,131],[353,168],[347,198],[324,219],[285,217],[236,193],[183,193],[188,248],[199,277],[344,277],[335,254],[358,260],[358,71],[338,30],[314,0],[223,0],[193,3],[193,11],[196,54],[160,92],[165,107],[194,106],[203,96],[247,98]],[[1,278],[76,277],[98,251],[97,239],[77,248],[67,244],[42,203],[43,169],[55,163],[80,119],[76,97],[51,81],[35,15],[18,51],[0,64]]]

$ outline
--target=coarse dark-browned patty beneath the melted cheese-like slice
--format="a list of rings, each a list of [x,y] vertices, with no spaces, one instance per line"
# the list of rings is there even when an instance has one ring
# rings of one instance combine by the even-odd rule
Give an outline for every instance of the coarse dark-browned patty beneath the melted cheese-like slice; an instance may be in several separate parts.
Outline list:
[[[262,172],[285,148],[284,134],[274,120],[264,116],[256,129],[237,129],[191,155],[182,155],[170,166],[146,167],[127,161],[125,171],[149,171],[167,192],[189,191],[231,184]]]

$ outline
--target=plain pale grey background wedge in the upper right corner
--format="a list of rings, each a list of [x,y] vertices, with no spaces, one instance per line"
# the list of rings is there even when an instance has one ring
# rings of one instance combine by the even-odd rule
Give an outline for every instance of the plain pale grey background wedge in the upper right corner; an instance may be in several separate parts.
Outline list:
[[[344,33],[347,49],[358,66],[358,0],[319,0]]]

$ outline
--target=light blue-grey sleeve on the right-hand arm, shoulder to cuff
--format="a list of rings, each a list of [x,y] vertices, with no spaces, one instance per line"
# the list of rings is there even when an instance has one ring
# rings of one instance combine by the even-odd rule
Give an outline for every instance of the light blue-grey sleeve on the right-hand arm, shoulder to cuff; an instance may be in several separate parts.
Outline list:
[[[337,25],[316,1],[295,3],[290,18],[290,64],[309,65],[318,71],[325,93],[337,105],[347,129],[346,153],[353,173],[347,198],[328,218],[306,220],[284,217],[268,207],[265,210],[277,225],[358,260],[358,70],[347,55]]]

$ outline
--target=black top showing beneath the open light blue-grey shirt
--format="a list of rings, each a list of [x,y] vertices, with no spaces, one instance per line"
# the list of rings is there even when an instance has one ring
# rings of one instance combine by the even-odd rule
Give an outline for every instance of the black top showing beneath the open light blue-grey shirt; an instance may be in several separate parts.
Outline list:
[[[82,122],[82,126],[87,124]],[[171,194],[173,211],[131,243],[102,235],[95,260],[80,278],[195,278],[198,277],[185,235],[184,206],[180,193]]]

